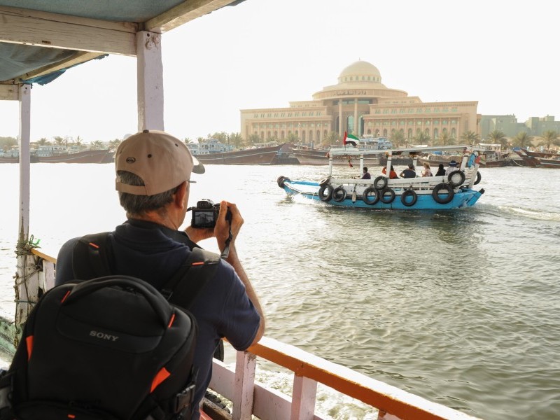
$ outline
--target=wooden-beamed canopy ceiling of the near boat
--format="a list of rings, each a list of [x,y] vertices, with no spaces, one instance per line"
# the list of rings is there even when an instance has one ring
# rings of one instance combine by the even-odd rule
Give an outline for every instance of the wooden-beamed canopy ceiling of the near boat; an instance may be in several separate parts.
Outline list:
[[[244,0],[0,0],[0,85],[44,85],[108,54],[136,55],[135,34],[164,33]]]

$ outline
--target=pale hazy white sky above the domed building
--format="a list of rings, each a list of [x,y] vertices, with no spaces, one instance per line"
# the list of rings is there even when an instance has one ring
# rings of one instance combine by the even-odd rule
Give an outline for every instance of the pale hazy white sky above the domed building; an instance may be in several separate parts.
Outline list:
[[[165,130],[239,132],[240,109],[310,100],[358,59],[424,102],[560,118],[559,31],[545,0],[246,0],[162,36]],[[137,130],[136,59],[111,56],[31,91],[31,140]],[[0,102],[0,136],[18,103]]]

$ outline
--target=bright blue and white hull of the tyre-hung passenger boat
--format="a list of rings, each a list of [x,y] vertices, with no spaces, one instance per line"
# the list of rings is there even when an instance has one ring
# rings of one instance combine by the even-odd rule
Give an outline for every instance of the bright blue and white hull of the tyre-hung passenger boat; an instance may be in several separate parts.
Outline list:
[[[309,181],[289,181],[285,180],[283,182],[283,190],[290,197],[301,196],[309,200],[314,200],[321,202],[321,197],[318,194],[319,183],[309,182]],[[379,200],[375,204],[366,204],[361,200],[360,196],[356,197],[356,201],[352,201],[351,195],[348,195],[345,200],[341,202],[336,202],[335,200],[329,200],[325,202],[336,207],[348,207],[348,208],[362,208],[362,209],[374,209],[374,210],[451,210],[451,209],[463,209],[465,207],[472,207],[484,193],[484,189],[479,191],[471,190],[470,188],[461,188],[454,193],[453,199],[446,204],[440,204],[436,202],[431,193],[428,194],[418,194],[416,203],[413,206],[405,205],[401,200],[403,190],[398,190],[395,188],[395,199],[391,203],[384,203]]]

